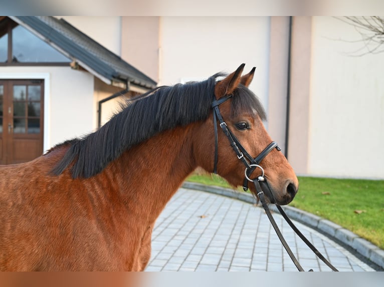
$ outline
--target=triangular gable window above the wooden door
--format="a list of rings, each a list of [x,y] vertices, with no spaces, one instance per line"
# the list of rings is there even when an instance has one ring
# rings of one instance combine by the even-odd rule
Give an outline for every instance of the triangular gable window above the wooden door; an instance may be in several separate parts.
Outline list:
[[[68,64],[69,58],[6,17],[0,23],[0,64]]]

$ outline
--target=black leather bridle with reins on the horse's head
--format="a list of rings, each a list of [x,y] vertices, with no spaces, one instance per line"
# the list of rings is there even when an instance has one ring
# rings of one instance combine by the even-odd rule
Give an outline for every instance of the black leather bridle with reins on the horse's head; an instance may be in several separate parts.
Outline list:
[[[232,95],[226,95],[219,99],[216,99],[214,96],[214,100],[212,102],[212,109],[213,109],[213,116],[214,116],[214,131],[215,131],[215,161],[214,161],[214,170],[213,172],[217,174],[217,162],[218,162],[218,124],[222,128],[224,134],[227,136],[227,138],[230,141],[230,144],[235,151],[237,157],[239,160],[241,160],[245,165],[245,172],[244,172],[244,183],[243,183],[243,189],[246,191],[248,190],[248,181],[251,181],[255,185],[256,194],[252,190],[252,195],[256,199],[260,199],[264,210],[273,226],[273,228],[276,231],[277,236],[279,237],[281,243],[283,244],[284,248],[287,250],[289,256],[291,257],[293,263],[296,265],[297,269],[299,271],[304,271],[303,267],[300,265],[298,260],[296,259],[295,255],[293,254],[292,250],[289,248],[287,242],[285,241],[282,233],[280,232],[279,227],[276,224],[276,221],[274,220],[271,211],[268,208],[268,204],[265,200],[264,194],[267,195],[271,203],[275,203],[276,201],[273,197],[273,193],[270,190],[268,186],[268,182],[264,177],[264,169],[259,165],[259,163],[262,161],[262,159],[271,152],[274,148],[277,150],[281,150],[277,143],[275,141],[272,141],[266,148],[263,149],[262,152],[255,158],[252,157],[247,150],[244,148],[244,146],[240,143],[240,141],[236,138],[236,136],[232,133],[232,131],[228,128],[227,123],[224,121],[223,116],[220,113],[219,105],[223,102],[226,102],[232,97]],[[219,122],[218,122],[219,121]],[[251,179],[250,176],[252,172],[256,169],[260,168],[262,171],[262,174],[257,176],[254,179]],[[263,188],[262,188],[263,186]],[[287,221],[287,223],[291,226],[291,228],[296,232],[296,234],[307,244],[309,248],[325,263],[327,264],[333,271],[338,271],[317,249],[315,246],[312,245],[311,242],[300,232],[300,230],[293,224],[293,222],[289,219],[287,214],[284,212],[284,210],[281,208],[280,205],[276,204],[277,209],[281,213],[281,215],[284,217],[284,219]],[[310,269],[309,271],[313,271],[313,269]]]

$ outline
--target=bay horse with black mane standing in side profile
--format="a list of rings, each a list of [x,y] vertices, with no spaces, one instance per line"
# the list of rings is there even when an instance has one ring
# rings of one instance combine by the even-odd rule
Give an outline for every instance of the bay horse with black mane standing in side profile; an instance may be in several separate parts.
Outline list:
[[[0,270],[144,270],[155,220],[191,172],[215,165],[233,186],[243,182],[226,135],[215,144],[212,102],[228,97],[221,115],[252,156],[271,142],[248,88],[255,68],[243,68],[157,87],[97,131],[0,166]],[[274,148],[260,164],[276,203],[289,203],[298,180],[285,156]]]

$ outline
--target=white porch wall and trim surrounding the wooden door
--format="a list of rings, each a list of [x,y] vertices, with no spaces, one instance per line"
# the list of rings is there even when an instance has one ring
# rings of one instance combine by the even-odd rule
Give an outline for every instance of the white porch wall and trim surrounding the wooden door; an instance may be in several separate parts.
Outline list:
[[[44,78],[44,150],[93,128],[94,77],[67,67],[6,66],[0,78]]]

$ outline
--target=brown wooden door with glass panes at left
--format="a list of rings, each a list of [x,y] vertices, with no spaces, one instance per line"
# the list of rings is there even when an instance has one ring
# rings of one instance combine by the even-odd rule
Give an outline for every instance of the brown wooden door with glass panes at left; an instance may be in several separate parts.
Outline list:
[[[0,163],[43,153],[43,80],[0,80]]]

